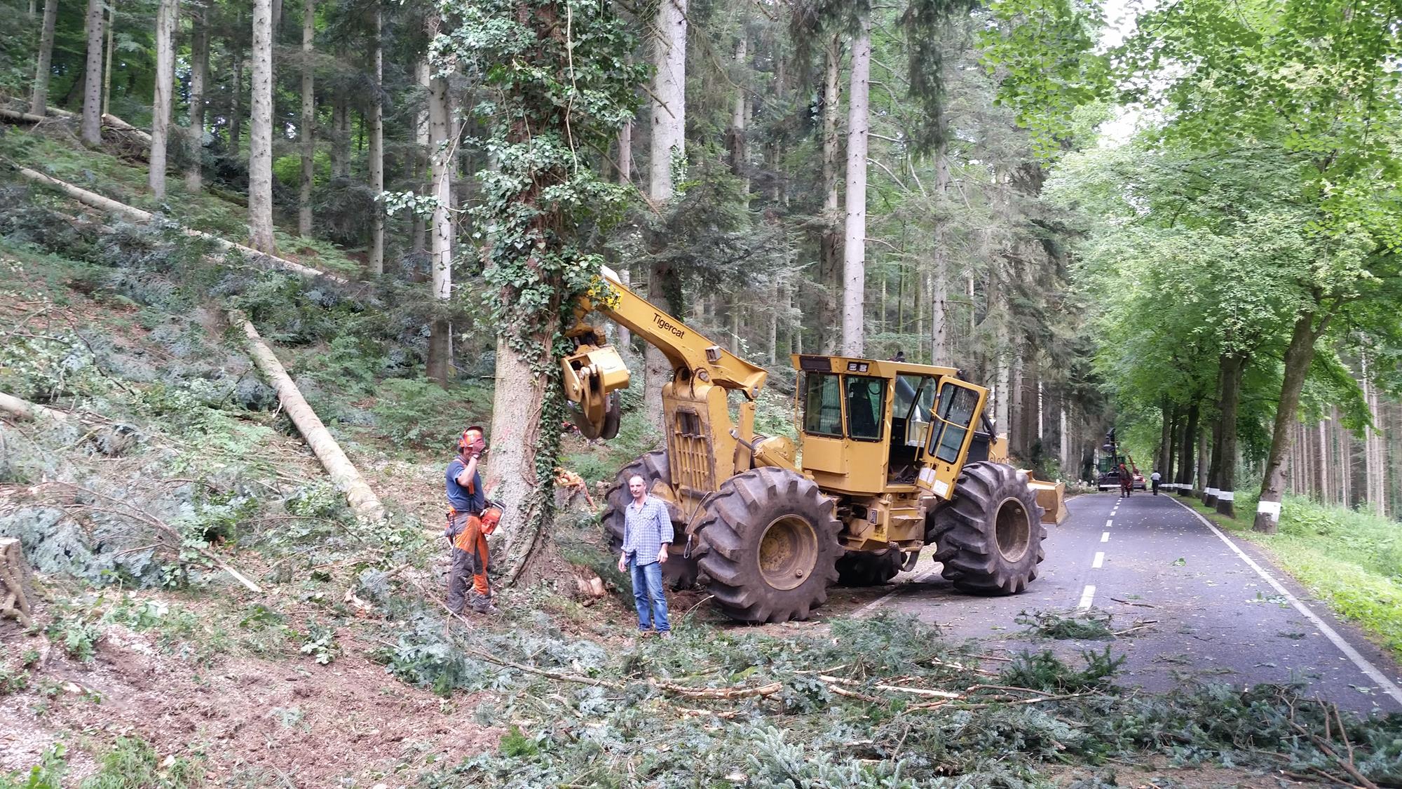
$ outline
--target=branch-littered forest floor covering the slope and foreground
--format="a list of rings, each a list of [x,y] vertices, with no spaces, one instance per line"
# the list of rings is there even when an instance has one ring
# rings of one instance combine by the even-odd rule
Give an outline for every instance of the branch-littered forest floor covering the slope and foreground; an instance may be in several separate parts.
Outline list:
[[[27,164],[79,156],[14,138],[3,153]],[[136,167],[114,161],[84,185],[137,199]],[[32,626],[0,622],[15,785],[1402,785],[1402,720],[1338,715],[1291,684],[1127,692],[1109,651],[986,654],[840,606],[743,628],[704,591],[673,597],[677,637],[637,639],[572,491],[551,577],[503,591],[499,618],[447,616],[444,444],[486,421],[491,389],[412,378],[402,293],[212,256],[8,175],[0,265],[0,390],[70,414],[0,420],[0,536],[21,539],[39,587]],[[278,348],[386,524],[349,517],[229,306]],[[653,441],[634,414],[621,438],[569,435],[565,465],[593,484]]]

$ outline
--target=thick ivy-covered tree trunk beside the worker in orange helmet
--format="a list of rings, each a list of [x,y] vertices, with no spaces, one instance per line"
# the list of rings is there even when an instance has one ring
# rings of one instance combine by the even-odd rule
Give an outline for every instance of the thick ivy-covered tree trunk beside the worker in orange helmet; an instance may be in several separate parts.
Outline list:
[[[439,0],[439,8],[470,25],[437,37],[435,65],[461,62],[495,97],[491,108],[478,105],[496,167],[478,173],[474,211],[492,227],[482,250],[499,340],[488,489],[506,508],[495,543],[512,584],[531,577],[552,518],[565,414],[561,330],[603,265],[576,246],[578,232],[625,194],[586,157],[607,150],[632,114],[644,70],[620,66],[635,41],[606,4]],[[499,63],[519,67],[489,67]]]

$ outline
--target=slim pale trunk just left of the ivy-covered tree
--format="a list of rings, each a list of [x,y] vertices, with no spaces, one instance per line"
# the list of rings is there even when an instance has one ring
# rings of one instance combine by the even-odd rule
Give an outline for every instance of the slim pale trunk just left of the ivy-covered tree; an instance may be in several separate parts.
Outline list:
[[[453,225],[449,206],[453,202],[453,111],[449,105],[447,80],[433,77],[429,83],[429,150],[432,152],[432,195],[437,199],[433,208],[433,223],[429,236],[429,268],[432,271],[433,298],[446,303],[453,295]],[[447,386],[449,357],[451,341],[446,317],[433,316],[429,329],[428,376]],[[498,357],[498,364],[501,364]],[[498,369],[498,386],[503,386]],[[534,389],[534,387],[531,387]]]

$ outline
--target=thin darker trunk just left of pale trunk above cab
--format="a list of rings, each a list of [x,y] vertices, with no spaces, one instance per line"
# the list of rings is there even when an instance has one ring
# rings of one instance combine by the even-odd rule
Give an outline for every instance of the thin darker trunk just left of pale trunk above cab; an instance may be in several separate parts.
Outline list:
[[[837,295],[843,289],[843,234],[838,226],[837,213],[837,157],[841,152],[841,139],[837,136],[837,124],[841,118],[838,101],[841,91],[841,39],[833,35],[827,39],[823,65],[823,216],[822,232],[819,234],[819,282],[827,291],[817,300],[819,348],[823,354],[837,352],[838,333],[833,331],[840,326]]]

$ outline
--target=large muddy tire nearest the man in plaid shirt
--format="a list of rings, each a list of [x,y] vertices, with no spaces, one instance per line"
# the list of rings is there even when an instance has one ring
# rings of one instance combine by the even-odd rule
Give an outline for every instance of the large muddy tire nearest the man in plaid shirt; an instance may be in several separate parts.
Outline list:
[[[707,498],[701,569],[726,616],[808,619],[837,580],[841,524],[813,480],[774,466],[736,475]]]

